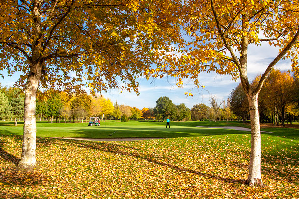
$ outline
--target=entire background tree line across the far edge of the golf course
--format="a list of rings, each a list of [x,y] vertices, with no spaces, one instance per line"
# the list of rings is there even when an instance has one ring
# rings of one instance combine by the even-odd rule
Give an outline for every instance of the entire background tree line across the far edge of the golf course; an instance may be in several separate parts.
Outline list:
[[[255,87],[260,76],[251,83]],[[190,120],[250,120],[249,104],[241,86],[234,88],[225,103],[215,96],[210,96],[210,107],[199,103],[191,109],[184,103],[175,105],[168,97],[160,97],[154,108],[144,107],[142,110],[128,105],[113,103],[103,96],[85,94],[68,95],[65,92],[46,90],[38,92],[36,114],[39,120],[56,122],[86,121],[91,116],[102,119],[128,120],[156,120],[167,118],[176,121]],[[0,87],[0,119],[23,119],[24,92],[19,88]],[[292,123],[299,115],[299,75],[297,72],[281,72],[272,70],[258,99],[261,122],[272,122],[274,125]]]

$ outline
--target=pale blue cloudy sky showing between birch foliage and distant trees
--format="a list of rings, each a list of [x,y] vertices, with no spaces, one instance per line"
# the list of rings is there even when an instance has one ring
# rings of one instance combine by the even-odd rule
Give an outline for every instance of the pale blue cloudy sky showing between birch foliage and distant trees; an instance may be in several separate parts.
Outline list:
[[[259,74],[263,74],[269,63],[277,56],[278,49],[273,45],[262,44],[261,46],[250,45],[248,49],[248,77],[249,81],[252,81],[254,77]],[[288,60],[279,61],[276,69],[287,71],[291,69],[291,62]],[[2,86],[13,86],[19,78],[19,75],[7,76],[7,71],[1,72],[4,75],[4,79],[0,77],[0,83]],[[119,105],[129,105],[131,107],[137,107],[142,109],[144,107],[154,108],[156,101],[159,97],[169,97],[170,100],[176,105],[185,103],[189,108],[199,103],[204,103],[210,106],[210,96],[215,96],[218,101],[227,100],[232,89],[237,87],[240,83],[231,80],[228,75],[219,75],[216,73],[201,73],[199,75],[199,83],[205,86],[205,89],[194,88],[192,83],[184,84],[184,88],[178,88],[174,78],[162,78],[153,81],[149,79],[138,80],[140,87],[140,95],[136,93],[129,93],[119,90],[109,90],[108,93],[102,93],[105,98],[109,98],[113,104],[117,101]],[[194,88],[192,90],[192,88]],[[192,90],[193,96],[184,94]]]

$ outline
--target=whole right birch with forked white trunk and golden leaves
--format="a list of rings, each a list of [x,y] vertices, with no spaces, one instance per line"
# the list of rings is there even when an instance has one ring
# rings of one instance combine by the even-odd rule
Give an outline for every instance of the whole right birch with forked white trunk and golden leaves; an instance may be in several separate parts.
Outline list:
[[[153,74],[174,76],[179,86],[183,85],[183,78],[192,79],[199,88],[198,74],[204,71],[229,74],[233,80],[240,78],[249,102],[251,121],[250,165],[246,182],[250,186],[263,186],[258,95],[279,60],[291,59],[292,67],[298,67],[298,2],[189,0],[182,12],[181,24],[190,39],[178,46],[181,47],[179,51],[161,56],[164,63],[158,64]],[[269,44],[279,49],[254,88],[247,76],[249,44]]]

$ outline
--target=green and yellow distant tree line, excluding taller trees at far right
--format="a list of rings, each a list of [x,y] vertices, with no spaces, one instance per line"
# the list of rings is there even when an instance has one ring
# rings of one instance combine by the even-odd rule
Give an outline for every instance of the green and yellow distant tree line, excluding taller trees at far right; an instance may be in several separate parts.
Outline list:
[[[23,119],[24,92],[18,88],[1,87],[0,89],[0,119],[12,120]],[[227,109],[227,108],[225,108]],[[128,105],[112,103],[110,99],[103,96],[92,96],[88,94],[68,95],[65,92],[54,90],[39,91],[36,100],[36,115],[40,121],[53,120],[60,122],[75,122],[88,120],[91,116],[98,116],[103,119],[115,119],[121,121],[130,120],[157,120],[163,121],[166,118],[177,121],[190,121],[202,119],[225,119],[224,112],[215,111],[204,105],[195,105],[192,109],[184,103],[175,105],[168,97],[160,97],[156,101],[156,107],[142,110]]]

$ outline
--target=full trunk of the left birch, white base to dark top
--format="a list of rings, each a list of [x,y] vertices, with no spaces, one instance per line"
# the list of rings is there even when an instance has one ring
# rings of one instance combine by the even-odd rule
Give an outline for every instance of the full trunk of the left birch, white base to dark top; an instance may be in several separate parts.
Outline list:
[[[24,130],[22,154],[18,167],[23,169],[32,169],[36,166],[36,93],[38,84],[42,76],[41,60],[41,40],[38,40],[41,34],[41,6],[42,0],[32,2],[32,18],[34,21],[34,30],[32,34],[32,59],[30,60],[30,71],[25,86],[24,99]],[[36,42],[38,41],[38,42]]]

